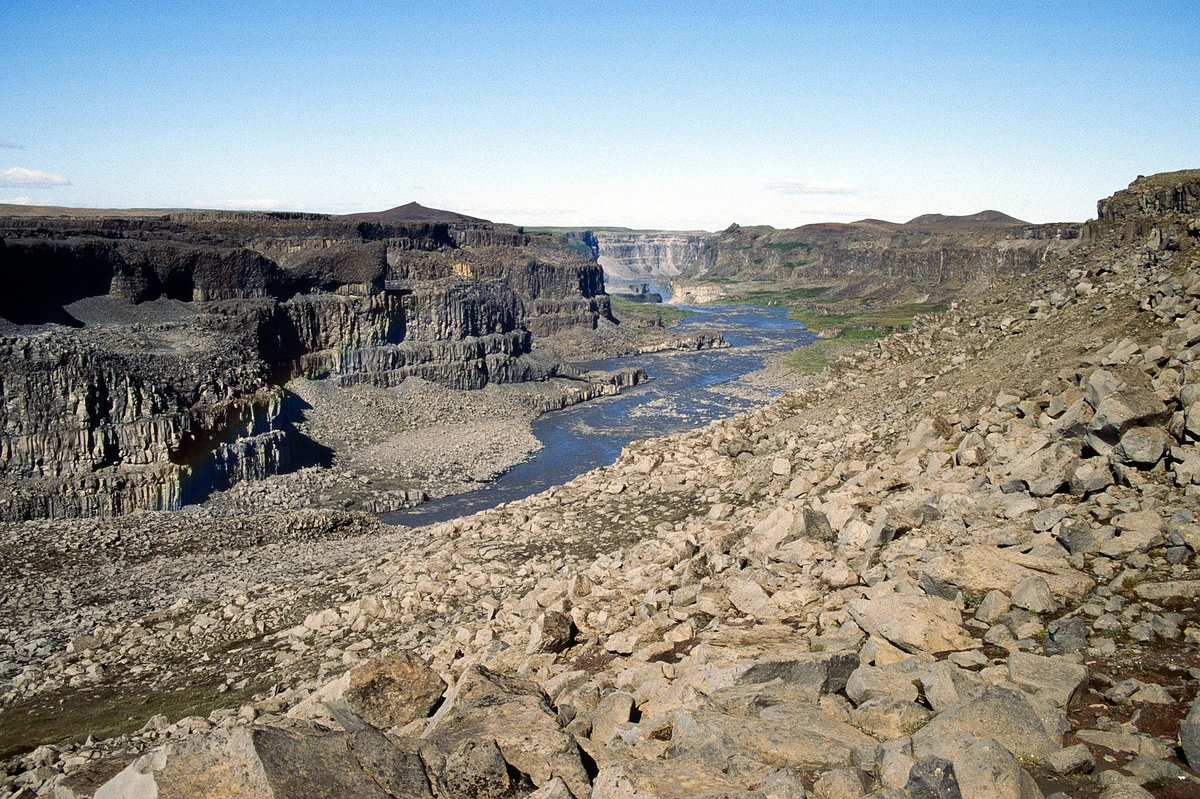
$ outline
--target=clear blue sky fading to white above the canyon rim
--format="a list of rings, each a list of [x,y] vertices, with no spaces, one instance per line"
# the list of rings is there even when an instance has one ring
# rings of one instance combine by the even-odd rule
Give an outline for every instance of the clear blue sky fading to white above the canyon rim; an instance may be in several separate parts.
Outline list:
[[[0,2],[0,203],[1082,221],[1198,112],[1196,0]]]

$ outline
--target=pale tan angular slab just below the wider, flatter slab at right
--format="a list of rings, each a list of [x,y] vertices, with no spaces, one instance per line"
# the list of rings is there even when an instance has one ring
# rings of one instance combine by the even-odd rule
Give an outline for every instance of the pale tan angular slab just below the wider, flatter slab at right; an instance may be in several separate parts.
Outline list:
[[[858,626],[905,651],[961,651],[980,647],[962,629],[958,607],[936,596],[893,594],[854,600],[846,607]]]

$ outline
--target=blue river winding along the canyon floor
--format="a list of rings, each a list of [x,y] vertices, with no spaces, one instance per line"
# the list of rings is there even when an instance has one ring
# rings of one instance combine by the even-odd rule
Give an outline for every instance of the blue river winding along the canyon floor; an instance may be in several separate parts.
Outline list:
[[[716,328],[728,349],[698,353],[655,353],[586,364],[614,370],[641,366],[647,383],[614,397],[600,397],[545,414],[533,422],[544,444],[534,456],[480,488],[380,518],[389,524],[421,525],[494,507],[562,485],[584,471],[608,465],[631,440],[667,435],[766,404],[772,392],[739,378],[760,368],[770,353],[806,344],[814,335],[787,318],[787,308],[768,306],[703,306],[689,308],[677,328]]]

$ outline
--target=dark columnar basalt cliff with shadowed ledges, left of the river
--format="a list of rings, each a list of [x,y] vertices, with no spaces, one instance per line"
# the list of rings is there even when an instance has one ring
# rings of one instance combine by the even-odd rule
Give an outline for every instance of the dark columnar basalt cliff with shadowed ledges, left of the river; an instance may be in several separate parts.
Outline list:
[[[463,220],[0,218],[0,518],[178,509],[320,463],[292,377],[552,377],[533,338],[610,314],[600,266]]]

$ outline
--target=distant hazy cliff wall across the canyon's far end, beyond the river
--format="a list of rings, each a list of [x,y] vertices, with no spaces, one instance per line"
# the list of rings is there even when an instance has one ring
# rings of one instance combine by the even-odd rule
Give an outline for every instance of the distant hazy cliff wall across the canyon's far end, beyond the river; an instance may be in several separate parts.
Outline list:
[[[1159,190],[1145,203],[1187,204]],[[1079,240],[1081,224],[1028,224],[996,211],[936,214],[905,224],[865,220],[776,230],[730,226],[719,234],[604,233],[578,236],[611,284],[653,283],[679,300],[708,302],[731,284],[834,284],[847,294],[961,293],[1031,272]],[[670,284],[670,289],[668,289]]]

